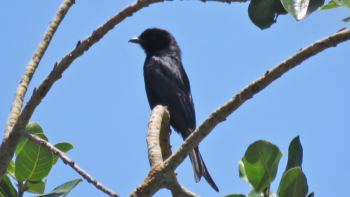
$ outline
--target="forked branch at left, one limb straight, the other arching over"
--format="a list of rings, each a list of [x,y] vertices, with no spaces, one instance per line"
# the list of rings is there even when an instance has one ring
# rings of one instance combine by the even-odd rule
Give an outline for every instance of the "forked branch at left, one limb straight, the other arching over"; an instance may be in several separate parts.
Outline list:
[[[113,15],[109,20],[107,20],[103,25],[95,29],[90,36],[85,38],[83,41],[78,41],[76,47],[66,54],[61,61],[56,62],[53,69],[47,77],[40,83],[38,88],[35,88],[33,94],[31,95],[26,106],[23,106],[24,96],[26,94],[28,84],[31,78],[34,75],[35,69],[38,66],[44,52],[46,51],[52,36],[57,30],[58,25],[63,20],[65,14],[72,4],[75,3],[74,0],[64,0],[62,5],[59,7],[54,18],[51,20],[51,23],[43,35],[38,48],[32,56],[32,60],[28,63],[28,66],[25,69],[25,72],[20,80],[18,88],[15,93],[15,98],[10,109],[10,114],[5,126],[5,135],[3,136],[1,146],[0,146],[0,178],[5,174],[8,164],[10,163],[11,158],[13,157],[15,148],[19,141],[18,132],[21,129],[24,129],[28,124],[31,115],[33,115],[34,109],[38,106],[41,100],[48,93],[53,83],[61,78],[62,73],[67,69],[70,64],[77,57],[84,54],[84,51],[87,51],[94,43],[98,42],[109,30],[113,29],[118,23],[123,21],[127,16],[132,16],[133,13],[139,11],[144,7],[148,7],[151,4],[156,2],[163,2],[164,0],[138,0],[133,4],[125,7],[116,15]],[[172,1],[172,0],[170,0]],[[206,0],[201,0],[205,2]],[[245,2],[247,0],[210,0],[218,2]]]

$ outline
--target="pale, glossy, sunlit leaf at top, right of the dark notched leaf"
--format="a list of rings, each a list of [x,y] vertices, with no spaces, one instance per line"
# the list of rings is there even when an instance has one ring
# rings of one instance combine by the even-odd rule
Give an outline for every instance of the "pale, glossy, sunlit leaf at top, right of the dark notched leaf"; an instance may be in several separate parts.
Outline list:
[[[283,7],[296,20],[301,20],[324,4],[324,0],[281,0]]]

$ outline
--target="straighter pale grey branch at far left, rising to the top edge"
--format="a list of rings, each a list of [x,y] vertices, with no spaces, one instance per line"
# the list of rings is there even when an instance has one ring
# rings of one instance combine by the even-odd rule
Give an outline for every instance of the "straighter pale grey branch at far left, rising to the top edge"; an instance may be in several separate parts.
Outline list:
[[[12,134],[12,128],[18,120],[18,116],[20,115],[20,111],[23,106],[24,96],[27,92],[28,84],[34,75],[35,69],[38,67],[42,56],[44,55],[47,47],[49,46],[52,36],[55,34],[58,25],[63,20],[64,16],[68,12],[68,9],[74,3],[74,0],[64,0],[61,6],[59,6],[57,12],[54,15],[54,18],[52,18],[49,27],[47,28],[46,32],[41,38],[40,43],[36,48],[33,56],[31,57],[31,60],[29,61],[23,73],[23,76],[18,84],[15,93],[15,98],[10,109],[10,114],[6,121],[5,135],[3,136],[0,147],[0,179],[2,179],[2,176],[5,174],[7,166],[13,157],[14,151],[20,138],[19,135]]]

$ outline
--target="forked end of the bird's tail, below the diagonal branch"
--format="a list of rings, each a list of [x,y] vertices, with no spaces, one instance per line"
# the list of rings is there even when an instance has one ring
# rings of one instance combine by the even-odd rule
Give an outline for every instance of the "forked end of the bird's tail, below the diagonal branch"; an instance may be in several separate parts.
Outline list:
[[[195,181],[199,182],[201,180],[201,177],[204,176],[205,180],[209,183],[209,185],[217,192],[219,192],[218,187],[215,185],[213,179],[209,175],[209,172],[207,170],[207,167],[205,167],[205,164],[203,162],[202,156],[198,150],[198,147],[193,149],[190,154],[190,160],[192,163],[193,172],[195,175]]]

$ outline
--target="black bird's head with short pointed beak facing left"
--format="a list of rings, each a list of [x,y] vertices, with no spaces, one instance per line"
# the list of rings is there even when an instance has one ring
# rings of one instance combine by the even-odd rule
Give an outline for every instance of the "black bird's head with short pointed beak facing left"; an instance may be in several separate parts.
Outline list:
[[[140,44],[147,55],[152,55],[160,50],[176,45],[173,35],[161,28],[146,29],[139,37],[130,39],[129,42]]]

